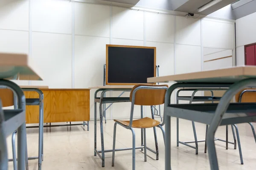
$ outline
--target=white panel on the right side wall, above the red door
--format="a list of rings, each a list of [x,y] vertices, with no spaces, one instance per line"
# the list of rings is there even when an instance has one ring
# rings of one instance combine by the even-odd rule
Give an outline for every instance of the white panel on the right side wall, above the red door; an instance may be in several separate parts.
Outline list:
[[[256,42],[256,12],[236,20],[236,46]]]

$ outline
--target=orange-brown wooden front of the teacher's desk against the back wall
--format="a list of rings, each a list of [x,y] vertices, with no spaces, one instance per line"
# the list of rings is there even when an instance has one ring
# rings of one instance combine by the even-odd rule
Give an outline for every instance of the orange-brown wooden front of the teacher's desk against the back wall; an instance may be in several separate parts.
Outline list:
[[[77,122],[90,120],[90,89],[40,88],[44,93],[44,122]],[[38,98],[25,91],[26,98]],[[38,123],[38,107],[26,106],[26,123]]]

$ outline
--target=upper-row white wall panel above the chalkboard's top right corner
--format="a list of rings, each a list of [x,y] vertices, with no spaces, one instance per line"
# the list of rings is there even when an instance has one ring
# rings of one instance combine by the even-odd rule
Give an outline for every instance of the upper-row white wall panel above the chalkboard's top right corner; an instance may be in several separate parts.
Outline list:
[[[174,42],[174,16],[145,12],[146,41]]]

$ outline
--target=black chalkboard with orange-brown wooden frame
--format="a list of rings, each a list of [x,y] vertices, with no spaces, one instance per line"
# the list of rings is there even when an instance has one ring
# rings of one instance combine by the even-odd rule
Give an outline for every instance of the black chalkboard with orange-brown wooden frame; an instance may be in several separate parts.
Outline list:
[[[147,83],[156,76],[156,48],[107,45],[106,85]]]

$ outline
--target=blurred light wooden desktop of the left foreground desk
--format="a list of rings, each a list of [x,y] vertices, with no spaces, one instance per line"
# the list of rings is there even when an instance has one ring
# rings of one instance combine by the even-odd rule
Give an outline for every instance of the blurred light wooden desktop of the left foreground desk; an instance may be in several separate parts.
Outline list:
[[[42,80],[38,73],[27,54],[0,53],[0,79]]]

